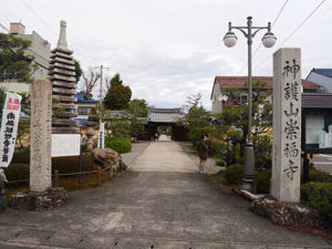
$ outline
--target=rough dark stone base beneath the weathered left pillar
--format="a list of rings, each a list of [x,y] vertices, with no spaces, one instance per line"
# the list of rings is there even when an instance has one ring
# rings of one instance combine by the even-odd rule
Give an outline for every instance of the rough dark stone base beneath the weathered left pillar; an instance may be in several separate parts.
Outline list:
[[[13,209],[32,211],[52,210],[61,207],[68,198],[68,191],[60,188],[48,188],[45,191],[18,193],[9,198],[8,206]]]

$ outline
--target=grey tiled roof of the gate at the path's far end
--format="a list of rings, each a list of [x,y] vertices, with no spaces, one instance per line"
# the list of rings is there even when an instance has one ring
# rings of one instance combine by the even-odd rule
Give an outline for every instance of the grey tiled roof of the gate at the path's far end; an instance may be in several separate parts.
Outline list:
[[[153,123],[176,123],[179,117],[179,108],[149,108],[147,114],[147,121]]]

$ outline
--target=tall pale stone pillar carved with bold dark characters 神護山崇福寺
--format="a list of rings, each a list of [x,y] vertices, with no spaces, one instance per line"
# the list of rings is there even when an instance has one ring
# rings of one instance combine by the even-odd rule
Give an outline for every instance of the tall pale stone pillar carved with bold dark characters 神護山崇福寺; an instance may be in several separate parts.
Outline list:
[[[300,203],[301,49],[273,54],[273,157],[271,195]]]

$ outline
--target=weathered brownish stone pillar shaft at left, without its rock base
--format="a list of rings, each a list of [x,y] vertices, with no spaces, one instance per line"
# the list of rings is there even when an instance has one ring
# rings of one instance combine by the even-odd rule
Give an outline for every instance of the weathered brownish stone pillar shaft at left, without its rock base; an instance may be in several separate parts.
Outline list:
[[[44,191],[52,186],[52,83],[35,80],[31,84],[30,190]]]

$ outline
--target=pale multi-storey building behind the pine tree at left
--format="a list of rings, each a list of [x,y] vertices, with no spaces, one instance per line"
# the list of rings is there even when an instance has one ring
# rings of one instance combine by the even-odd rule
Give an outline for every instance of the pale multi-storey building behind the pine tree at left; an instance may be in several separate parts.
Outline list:
[[[38,65],[38,70],[32,73],[34,79],[46,79],[49,73],[49,61],[51,55],[51,44],[35,31],[31,34],[25,34],[25,27],[20,22],[10,23],[10,33],[31,42],[31,45],[25,51],[27,54],[33,55],[33,63]],[[0,87],[4,87],[12,92],[29,92],[29,83],[18,83],[18,82],[1,82]]]

